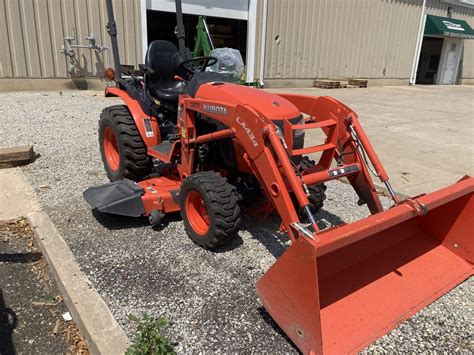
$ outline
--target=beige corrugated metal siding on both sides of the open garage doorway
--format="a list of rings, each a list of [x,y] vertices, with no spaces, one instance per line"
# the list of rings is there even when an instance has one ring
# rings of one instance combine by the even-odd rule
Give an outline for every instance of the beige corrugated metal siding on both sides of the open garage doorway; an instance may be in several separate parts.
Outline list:
[[[141,0],[113,0],[121,61],[142,62]],[[315,78],[370,78],[408,83],[422,0],[268,0],[264,78],[286,85]],[[428,0],[427,13],[474,27],[474,9]],[[259,76],[263,0],[257,3],[255,78]],[[60,53],[63,38],[111,48],[105,0],[0,0],[0,78],[102,77],[111,50],[75,49],[75,70]],[[280,43],[274,40],[280,36]],[[463,82],[474,81],[474,40],[464,41]],[[13,81],[8,81],[8,85]],[[7,85],[7,86],[8,86]]]

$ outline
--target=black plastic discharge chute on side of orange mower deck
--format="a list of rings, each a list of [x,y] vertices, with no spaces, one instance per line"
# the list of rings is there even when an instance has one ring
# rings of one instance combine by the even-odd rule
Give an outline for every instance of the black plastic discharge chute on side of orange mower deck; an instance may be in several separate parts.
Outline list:
[[[100,212],[140,217],[145,213],[144,190],[131,180],[114,181],[84,191],[84,199]]]

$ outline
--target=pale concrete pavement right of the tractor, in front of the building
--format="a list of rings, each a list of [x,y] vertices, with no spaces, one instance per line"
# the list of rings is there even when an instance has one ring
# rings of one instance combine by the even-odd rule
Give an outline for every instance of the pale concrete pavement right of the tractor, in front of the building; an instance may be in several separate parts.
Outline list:
[[[398,192],[428,193],[474,175],[474,86],[269,91],[327,95],[351,107]]]

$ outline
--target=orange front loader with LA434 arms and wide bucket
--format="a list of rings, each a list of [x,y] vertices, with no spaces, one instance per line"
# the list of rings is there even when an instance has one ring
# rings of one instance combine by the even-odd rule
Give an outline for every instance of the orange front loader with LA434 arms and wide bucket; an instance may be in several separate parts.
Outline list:
[[[357,353],[403,320],[473,275],[474,179],[399,201],[357,115],[329,97],[281,95],[306,115],[285,120],[283,132],[256,106],[217,103],[206,112],[199,99],[183,102],[187,151],[193,143],[233,138],[282,219],[291,246],[257,283],[260,300],[305,354]],[[193,131],[193,112],[228,128],[204,136]],[[188,122],[189,121],[189,122]],[[189,125],[189,126],[187,126]],[[188,130],[187,128],[191,128]],[[320,129],[322,144],[293,148],[295,130]],[[291,157],[320,153],[301,175]],[[186,165],[186,164],[185,164]],[[193,171],[185,166],[182,171]],[[383,211],[369,170],[386,183],[395,202]],[[303,227],[290,198],[307,206],[305,184],[346,177],[372,216],[319,231]]]

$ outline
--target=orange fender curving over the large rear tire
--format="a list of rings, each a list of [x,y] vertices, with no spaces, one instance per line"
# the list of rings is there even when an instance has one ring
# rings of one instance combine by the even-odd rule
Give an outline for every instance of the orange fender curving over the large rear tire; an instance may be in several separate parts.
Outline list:
[[[125,102],[128,110],[130,111],[130,114],[133,117],[133,120],[135,121],[135,125],[137,126],[138,132],[140,133],[140,136],[142,137],[143,142],[145,142],[145,145],[148,148],[151,148],[154,145],[161,143],[161,135],[160,135],[160,130],[158,128],[157,119],[143,112],[137,100],[133,99],[124,90],[121,90],[119,88],[108,87],[105,89],[105,97],[111,97],[111,96],[120,97]],[[147,128],[145,126],[145,119],[150,120],[151,131],[150,129],[148,129],[148,132],[147,132]]]

